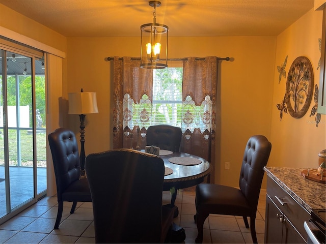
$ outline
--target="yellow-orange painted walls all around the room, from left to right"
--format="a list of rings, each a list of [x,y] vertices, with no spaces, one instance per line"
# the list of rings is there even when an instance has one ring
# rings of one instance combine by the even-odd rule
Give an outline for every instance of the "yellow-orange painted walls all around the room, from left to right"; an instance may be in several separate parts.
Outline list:
[[[64,99],[69,92],[77,92],[80,88],[97,92],[98,97],[99,113],[86,116],[86,154],[110,149],[112,63],[104,58],[140,56],[140,37],[65,38],[1,4],[0,11],[0,25],[67,53],[63,62]],[[4,20],[9,17],[15,21]],[[220,66],[221,139],[218,150],[221,157],[215,162],[216,182],[238,186],[244,146],[254,134],[265,135],[273,144],[269,166],[309,167],[308,162],[317,163],[318,151],[326,147],[325,115],[321,116],[318,128],[311,123],[311,107],[301,119],[286,114],[280,122],[276,104],[283,99],[285,79],[278,84],[276,66],[284,62],[286,55],[289,56],[287,68],[295,57],[305,55],[313,64],[316,82],[320,35],[321,14],[310,11],[278,37],[169,39],[169,57],[216,55],[232,58],[232,62],[223,61]],[[65,121],[79,137],[78,116],[67,114]],[[230,170],[224,169],[224,162],[231,163]]]

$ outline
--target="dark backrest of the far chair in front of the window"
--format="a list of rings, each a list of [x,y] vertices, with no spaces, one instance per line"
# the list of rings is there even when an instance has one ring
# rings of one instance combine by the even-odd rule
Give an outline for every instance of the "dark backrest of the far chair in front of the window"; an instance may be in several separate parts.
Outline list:
[[[180,151],[181,128],[171,125],[150,126],[146,133],[146,144],[160,149]]]

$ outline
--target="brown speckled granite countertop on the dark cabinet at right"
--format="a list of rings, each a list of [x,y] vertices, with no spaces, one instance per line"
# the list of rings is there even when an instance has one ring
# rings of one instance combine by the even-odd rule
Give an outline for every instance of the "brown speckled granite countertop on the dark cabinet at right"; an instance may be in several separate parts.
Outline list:
[[[326,185],[304,178],[300,174],[304,169],[264,167],[264,170],[309,213],[313,208],[326,208]]]

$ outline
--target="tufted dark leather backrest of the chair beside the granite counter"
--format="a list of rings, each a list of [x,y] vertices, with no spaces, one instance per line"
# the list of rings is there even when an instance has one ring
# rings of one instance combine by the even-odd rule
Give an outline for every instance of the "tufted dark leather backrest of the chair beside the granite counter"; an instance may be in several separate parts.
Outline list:
[[[242,160],[239,186],[251,209],[256,212],[261,182],[271,150],[271,143],[265,136],[249,138]]]

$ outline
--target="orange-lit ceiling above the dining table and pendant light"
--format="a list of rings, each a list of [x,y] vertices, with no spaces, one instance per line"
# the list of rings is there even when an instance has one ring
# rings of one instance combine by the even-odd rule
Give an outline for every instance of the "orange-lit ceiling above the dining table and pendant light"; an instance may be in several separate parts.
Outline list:
[[[171,37],[274,36],[314,0],[161,0],[156,22]],[[0,0],[66,37],[138,37],[153,21],[147,0]],[[13,21],[13,20],[10,20]]]

